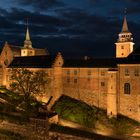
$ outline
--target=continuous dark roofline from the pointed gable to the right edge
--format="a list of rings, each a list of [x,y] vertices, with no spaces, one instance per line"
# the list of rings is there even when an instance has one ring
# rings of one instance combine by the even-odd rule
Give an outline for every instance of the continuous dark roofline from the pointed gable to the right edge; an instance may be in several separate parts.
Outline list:
[[[63,67],[77,68],[116,68],[118,64],[140,64],[140,49],[127,58],[108,59],[67,59],[64,60]],[[137,55],[135,55],[137,54]]]

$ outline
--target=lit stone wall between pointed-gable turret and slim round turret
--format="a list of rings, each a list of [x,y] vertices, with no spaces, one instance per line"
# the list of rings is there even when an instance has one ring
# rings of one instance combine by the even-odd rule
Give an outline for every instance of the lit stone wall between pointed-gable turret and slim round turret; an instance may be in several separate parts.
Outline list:
[[[106,109],[107,70],[107,68],[63,68],[63,94]]]

